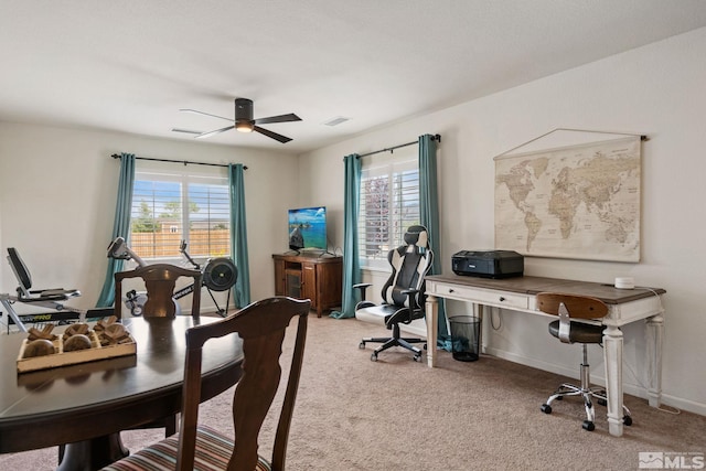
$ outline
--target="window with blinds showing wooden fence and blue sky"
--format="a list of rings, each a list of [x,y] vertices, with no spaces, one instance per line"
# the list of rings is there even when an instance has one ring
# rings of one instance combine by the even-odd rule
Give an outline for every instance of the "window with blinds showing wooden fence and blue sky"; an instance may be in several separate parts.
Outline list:
[[[180,257],[182,239],[192,257],[231,253],[229,191],[224,176],[138,171],[130,217],[130,247],[140,257]]]

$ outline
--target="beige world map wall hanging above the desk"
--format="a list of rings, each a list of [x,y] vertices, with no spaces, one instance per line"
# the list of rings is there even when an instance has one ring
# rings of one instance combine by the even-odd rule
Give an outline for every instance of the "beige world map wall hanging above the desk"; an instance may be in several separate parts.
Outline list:
[[[640,260],[641,138],[495,157],[495,248]]]

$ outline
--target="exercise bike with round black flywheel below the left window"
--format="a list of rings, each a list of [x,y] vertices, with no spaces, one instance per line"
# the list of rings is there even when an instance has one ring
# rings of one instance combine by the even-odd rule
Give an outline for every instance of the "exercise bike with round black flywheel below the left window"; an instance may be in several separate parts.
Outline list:
[[[211,258],[206,261],[206,265],[201,267],[186,251],[186,240],[182,240],[179,246],[179,251],[186,258],[186,260],[196,269],[200,270],[203,275],[202,286],[206,287],[213,303],[216,307],[216,311],[220,315],[225,317],[228,312],[228,304],[231,302],[231,291],[229,289],[235,286],[238,277],[238,270],[229,258],[218,257]],[[110,243],[108,246],[108,257],[129,260],[132,259],[139,267],[145,267],[148,264],[140,258],[125,242],[125,238],[117,237],[115,240]],[[174,291],[174,296],[172,299],[174,300],[174,304],[176,307],[176,314],[179,315],[181,309],[178,299],[183,298],[184,296],[191,295],[194,292],[194,283],[188,285],[184,288],[181,288]],[[225,309],[221,309],[218,306],[218,301],[216,301],[213,296],[213,291],[228,291],[225,302]],[[130,310],[130,313],[135,317],[142,314],[142,309],[145,303],[147,302],[147,293],[143,291],[130,290],[126,293],[126,299],[124,300],[125,306]]]

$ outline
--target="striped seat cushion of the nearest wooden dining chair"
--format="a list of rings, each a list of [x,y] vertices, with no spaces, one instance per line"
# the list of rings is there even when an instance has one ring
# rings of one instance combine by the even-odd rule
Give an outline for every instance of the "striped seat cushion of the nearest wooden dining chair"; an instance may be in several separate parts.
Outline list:
[[[173,471],[176,468],[179,437],[167,438],[130,454],[106,468],[107,471]],[[194,471],[223,471],[228,467],[233,440],[221,432],[200,426],[196,430]],[[271,471],[269,463],[258,457],[254,471]]]

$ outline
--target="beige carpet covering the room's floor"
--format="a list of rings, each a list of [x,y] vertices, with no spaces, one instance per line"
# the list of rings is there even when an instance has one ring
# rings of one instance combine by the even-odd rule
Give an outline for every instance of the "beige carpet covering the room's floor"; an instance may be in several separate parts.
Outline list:
[[[582,405],[575,400],[557,403],[552,415],[539,411],[567,378],[490,356],[457,362],[447,352],[434,370],[402,350],[373,363],[373,346],[357,344],[382,333],[354,319],[310,318],[288,469],[631,470],[641,451],[706,452],[706,417],[670,414],[625,396],[634,424],[623,437],[608,433],[602,407],[596,430],[587,432]],[[231,398],[228,393],[202,405],[201,421],[232,430]],[[268,421],[260,437],[265,456],[271,428]],[[160,436],[122,433],[132,450]],[[55,448],[0,456],[2,470],[55,465]]]

